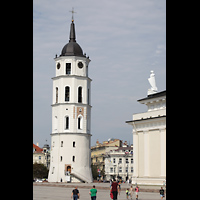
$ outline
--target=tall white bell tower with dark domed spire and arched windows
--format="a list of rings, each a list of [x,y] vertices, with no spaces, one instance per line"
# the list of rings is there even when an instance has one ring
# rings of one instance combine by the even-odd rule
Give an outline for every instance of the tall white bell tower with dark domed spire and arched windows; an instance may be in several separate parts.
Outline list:
[[[70,40],[55,60],[53,77],[51,162],[48,181],[92,182],[91,79],[89,57],[76,42],[72,18]]]

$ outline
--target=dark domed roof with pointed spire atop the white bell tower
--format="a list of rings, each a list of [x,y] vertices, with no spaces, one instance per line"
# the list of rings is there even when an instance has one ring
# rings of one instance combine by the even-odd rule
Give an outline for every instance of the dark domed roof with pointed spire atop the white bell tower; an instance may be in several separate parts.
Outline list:
[[[73,20],[72,20],[71,27],[70,27],[69,43],[67,43],[63,47],[60,56],[80,56],[80,57],[86,57],[85,55],[83,55],[82,48],[76,42],[75,25],[74,25],[74,21]]]

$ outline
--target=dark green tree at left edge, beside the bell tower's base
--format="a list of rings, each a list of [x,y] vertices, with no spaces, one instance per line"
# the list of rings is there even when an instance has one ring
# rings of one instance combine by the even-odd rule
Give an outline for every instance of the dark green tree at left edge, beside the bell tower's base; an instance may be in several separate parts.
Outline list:
[[[47,178],[49,170],[43,164],[33,164],[33,178]]]

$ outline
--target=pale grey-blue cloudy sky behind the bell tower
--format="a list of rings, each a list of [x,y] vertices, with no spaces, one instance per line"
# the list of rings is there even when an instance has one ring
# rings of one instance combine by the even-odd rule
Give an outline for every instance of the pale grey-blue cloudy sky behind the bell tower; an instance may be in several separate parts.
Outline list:
[[[166,89],[165,0],[33,0],[33,143],[51,145],[54,57],[69,42],[72,7],[76,41],[91,59],[91,145],[132,144],[125,121],[147,111],[137,100],[151,70],[158,92]]]

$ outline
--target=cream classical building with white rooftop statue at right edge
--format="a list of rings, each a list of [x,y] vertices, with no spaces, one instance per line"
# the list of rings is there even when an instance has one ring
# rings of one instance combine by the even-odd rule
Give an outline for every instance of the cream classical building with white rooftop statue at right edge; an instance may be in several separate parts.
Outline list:
[[[162,185],[166,179],[166,91],[157,92],[152,82],[154,89],[138,100],[147,112],[133,114],[126,123],[133,126],[133,183]]]

